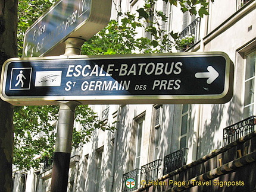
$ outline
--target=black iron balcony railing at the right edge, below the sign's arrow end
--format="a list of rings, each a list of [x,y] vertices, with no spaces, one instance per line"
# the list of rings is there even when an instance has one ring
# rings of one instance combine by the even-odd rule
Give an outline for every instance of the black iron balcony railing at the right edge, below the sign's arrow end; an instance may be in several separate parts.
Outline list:
[[[242,136],[248,135],[254,131],[256,124],[256,117],[251,116],[247,119],[239,121],[238,123],[232,124],[223,129],[223,146],[234,142]]]

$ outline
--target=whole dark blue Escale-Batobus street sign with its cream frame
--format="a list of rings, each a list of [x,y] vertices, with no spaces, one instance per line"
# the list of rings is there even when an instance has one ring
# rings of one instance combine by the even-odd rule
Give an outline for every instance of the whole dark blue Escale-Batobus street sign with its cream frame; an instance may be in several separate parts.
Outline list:
[[[226,103],[233,63],[221,52],[14,58],[1,98],[13,105]]]

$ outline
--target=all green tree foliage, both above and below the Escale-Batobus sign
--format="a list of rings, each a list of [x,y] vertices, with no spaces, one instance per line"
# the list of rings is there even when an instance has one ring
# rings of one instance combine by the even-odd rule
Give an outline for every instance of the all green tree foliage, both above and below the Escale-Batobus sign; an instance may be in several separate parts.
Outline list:
[[[179,6],[182,12],[188,11],[200,17],[208,15],[207,0],[163,1]],[[54,2],[55,0],[19,1],[18,50],[20,56],[25,31]],[[145,0],[145,4],[136,10],[136,14],[119,11],[116,20],[111,20],[107,27],[85,42],[82,55],[170,52],[179,34],[174,31],[167,33],[161,28],[161,23],[166,22],[167,17],[163,11],[155,10],[156,2],[157,0]],[[149,38],[137,37],[138,28],[143,28],[149,34]],[[54,123],[57,118],[58,106],[54,105],[14,108],[14,165],[20,169],[39,167],[40,162],[51,159],[55,144]],[[95,128],[113,130],[113,127],[102,126],[102,122],[97,120],[96,114],[88,105],[76,108],[76,121],[82,124],[82,129],[74,128],[74,147],[88,142]]]

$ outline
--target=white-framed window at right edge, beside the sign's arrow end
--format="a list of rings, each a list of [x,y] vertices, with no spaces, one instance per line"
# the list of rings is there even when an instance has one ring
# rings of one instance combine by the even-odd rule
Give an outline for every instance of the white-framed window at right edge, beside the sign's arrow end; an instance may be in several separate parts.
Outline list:
[[[243,119],[255,114],[255,57],[256,52],[245,56],[245,82],[243,95]]]

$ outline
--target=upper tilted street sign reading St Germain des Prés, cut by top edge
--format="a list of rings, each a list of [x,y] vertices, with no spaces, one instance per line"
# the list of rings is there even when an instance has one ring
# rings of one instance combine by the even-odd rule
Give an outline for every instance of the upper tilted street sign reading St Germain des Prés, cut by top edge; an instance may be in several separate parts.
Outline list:
[[[111,0],[60,0],[24,37],[23,57],[62,55],[68,37],[88,40],[108,24]]]

